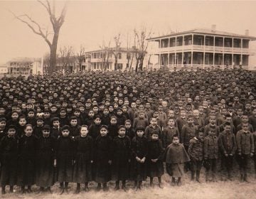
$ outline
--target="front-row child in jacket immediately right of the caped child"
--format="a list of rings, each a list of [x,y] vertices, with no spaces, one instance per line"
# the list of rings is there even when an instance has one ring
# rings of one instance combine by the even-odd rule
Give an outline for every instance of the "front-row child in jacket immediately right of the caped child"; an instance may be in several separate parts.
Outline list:
[[[203,132],[198,132],[198,134],[189,141],[188,156],[191,158],[191,181],[195,179],[196,172],[196,181],[201,183],[199,178],[203,162]]]

